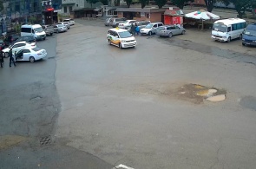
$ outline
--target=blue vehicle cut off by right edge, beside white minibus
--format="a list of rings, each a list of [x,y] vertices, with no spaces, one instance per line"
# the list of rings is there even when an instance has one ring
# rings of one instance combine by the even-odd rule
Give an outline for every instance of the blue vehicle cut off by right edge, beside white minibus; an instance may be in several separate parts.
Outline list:
[[[242,45],[256,46],[256,23],[248,24],[243,32]]]

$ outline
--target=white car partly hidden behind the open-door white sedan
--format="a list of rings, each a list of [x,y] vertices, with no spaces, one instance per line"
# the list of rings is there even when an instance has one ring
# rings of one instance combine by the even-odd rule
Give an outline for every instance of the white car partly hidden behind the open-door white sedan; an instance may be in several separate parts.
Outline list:
[[[27,48],[27,47],[36,47],[36,42],[16,42],[13,45],[10,45],[10,47],[3,49],[4,57],[8,57],[8,53],[10,49],[12,49],[12,54],[15,54],[15,52]]]

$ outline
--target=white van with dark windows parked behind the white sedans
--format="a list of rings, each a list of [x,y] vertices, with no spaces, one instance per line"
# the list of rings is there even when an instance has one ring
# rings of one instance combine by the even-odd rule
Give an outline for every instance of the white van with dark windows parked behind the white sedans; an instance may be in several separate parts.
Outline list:
[[[34,36],[36,40],[45,40],[46,33],[40,24],[24,24],[21,29],[21,36]]]

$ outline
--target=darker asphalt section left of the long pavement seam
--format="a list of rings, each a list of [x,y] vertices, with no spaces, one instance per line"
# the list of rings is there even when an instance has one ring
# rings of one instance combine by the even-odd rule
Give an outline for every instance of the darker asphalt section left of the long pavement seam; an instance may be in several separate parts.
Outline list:
[[[59,36],[59,35],[56,35]],[[56,140],[61,103],[56,92],[56,36],[37,42],[47,58],[34,63],[8,58],[0,69],[0,168],[92,168],[111,165]],[[62,35],[60,35],[62,36]],[[47,137],[48,140],[43,140]]]

